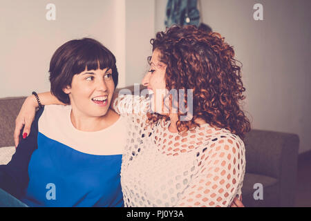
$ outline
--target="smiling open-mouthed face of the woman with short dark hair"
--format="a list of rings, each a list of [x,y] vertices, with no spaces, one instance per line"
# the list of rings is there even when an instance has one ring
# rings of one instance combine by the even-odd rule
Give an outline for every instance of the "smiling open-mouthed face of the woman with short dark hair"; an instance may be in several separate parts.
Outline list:
[[[111,69],[87,70],[73,76],[71,86],[64,88],[69,95],[73,111],[78,116],[100,117],[106,115],[115,84]]]

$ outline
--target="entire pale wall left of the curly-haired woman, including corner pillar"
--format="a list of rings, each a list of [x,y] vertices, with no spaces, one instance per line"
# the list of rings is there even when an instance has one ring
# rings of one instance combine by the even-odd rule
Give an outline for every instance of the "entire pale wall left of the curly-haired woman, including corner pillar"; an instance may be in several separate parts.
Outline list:
[[[48,3],[56,6],[55,21],[46,19]],[[82,37],[93,37],[113,52],[119,87],[140,83],[147,71],[154,0],[1,0],[0,5],[0,97],[50,90],[53,53]]]

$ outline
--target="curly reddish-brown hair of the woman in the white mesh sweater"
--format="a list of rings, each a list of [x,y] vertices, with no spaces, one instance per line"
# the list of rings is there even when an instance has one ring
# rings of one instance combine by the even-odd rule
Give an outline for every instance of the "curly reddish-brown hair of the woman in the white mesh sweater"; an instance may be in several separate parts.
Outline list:
[[[166,68],[166,88],[193,89],[193,118],[180,121],[185,115],[178,111],[178,132],[196,128],[196,119],[204,119],[216,128],[225,128],[242,140],[250,131],[249,119],[239,102],[245,99],[241,67],[234,59],[234,50],[216,32],[205,32],[196,26],[172,26],[151,39],[154,50]],[[150,59],[150,57],[149,57]],[[241,64],[241,62],[239,62]],[[187,107],[187,95],[184,100]],[[148,113],[151,124],[167,121],[168,115]]]

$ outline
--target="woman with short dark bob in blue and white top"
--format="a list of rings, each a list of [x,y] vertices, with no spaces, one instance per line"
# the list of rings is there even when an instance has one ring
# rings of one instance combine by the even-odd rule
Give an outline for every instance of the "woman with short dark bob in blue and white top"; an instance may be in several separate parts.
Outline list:
[[[40,108],[30,135],[0,166],[0,188],[28,206],[123,206],[126,140],[113,136],[125,135],[126,122],[109,108],[118,77],[114,55],[94,39],[68,41],[49,72],[53,95],[70,105]]]

